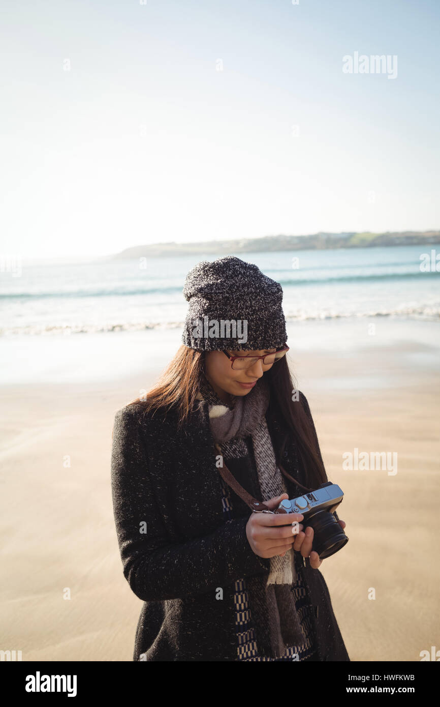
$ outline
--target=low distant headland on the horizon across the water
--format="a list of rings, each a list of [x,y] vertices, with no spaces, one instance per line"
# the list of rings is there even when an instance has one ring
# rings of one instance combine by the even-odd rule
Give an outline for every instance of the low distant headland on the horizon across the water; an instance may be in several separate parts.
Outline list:
[[[440,230],[408,230],[399,233],[314,233],[314,235],[265,235],[261,238],[206,240],[199,243],[153,243],[125,248],[112,259],[164,255],[222,255],[229,253],[275,252],[283,250],[326,250],[393,245],[440,243]]]

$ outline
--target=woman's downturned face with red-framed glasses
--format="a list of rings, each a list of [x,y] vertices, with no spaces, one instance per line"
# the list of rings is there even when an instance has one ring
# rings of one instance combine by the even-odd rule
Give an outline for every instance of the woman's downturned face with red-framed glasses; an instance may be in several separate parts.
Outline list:
[[[273,351],[276,351],[276,349],[261,349],[260,351],[232,351],[232,349],[227,349],[227,354],[230,354],[230,356],[251,357],[263,356]],[[265,366],[263,359],[260,358],[250,368],[232,370],[230,358],[225,356],[223,351],[206,351],[205,356],[206,378],[208,378],[220,400],[226,403],[230,402],[230,395],[247,395],[254,387],[249,384],[256,382],[272,366],[273,363]],[[242,383],[246,383],[246,385],[241,385]]]

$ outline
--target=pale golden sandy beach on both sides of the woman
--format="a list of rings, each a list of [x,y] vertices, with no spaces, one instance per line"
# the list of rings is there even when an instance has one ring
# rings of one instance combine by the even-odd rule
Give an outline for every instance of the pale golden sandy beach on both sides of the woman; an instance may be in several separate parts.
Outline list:
[[[347,322],[321,322],[313,332],[295,325],[287,341],[328,478],[345,493],[338,513],[350,541],[320,571],[351,660],[417,661],[440,647],[438,325],[383,320],[374,336],[367,322],[358,326],[359,336]],[[112,424],[152,385],[179,332],[97,337],[108,351],[102,375],[94,377],[90,344],[71,368],[71,342],[63,356],[57,339],[63,375],[52,362],[32,382],[23,356],[21,380],[2,385],[1,648],[21,650],[23,660],[132,660],[142,602],[117,545]],[[109,346],[116,341],[117,354]],[[6,344],[10,353],[18,346]],[[124,364],[113,374],[116,356]],[[343,469],[355,449],[396,452],[397,466]]]

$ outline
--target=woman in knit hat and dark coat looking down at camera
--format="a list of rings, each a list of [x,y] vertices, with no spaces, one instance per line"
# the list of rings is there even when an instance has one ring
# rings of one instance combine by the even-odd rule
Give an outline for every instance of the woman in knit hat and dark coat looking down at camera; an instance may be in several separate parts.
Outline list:
[[[328,480],[283,290],[227,256],[198,263],[184,296],[183,345],[114,419],[119,551],[144,602],[133,660],[350,660],[313,530],[260,512]]]

